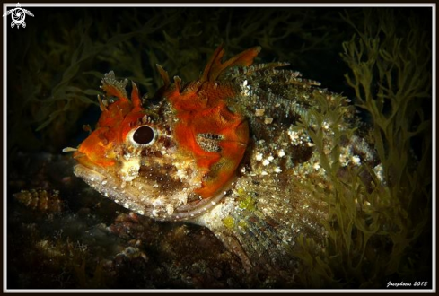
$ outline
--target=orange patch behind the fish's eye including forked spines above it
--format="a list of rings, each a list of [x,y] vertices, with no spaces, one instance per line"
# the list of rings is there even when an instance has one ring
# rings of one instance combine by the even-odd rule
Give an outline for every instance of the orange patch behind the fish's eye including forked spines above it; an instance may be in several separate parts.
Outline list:
[[[198,170],[205,172],[195,191],[203,198],[213,196],[233,177],[249,142],[246,119],[227,108],[227,99],[237,95],[236,90],[218,79],[230,67],[251,65],[259,50],[250,48],[221,63],[224,49],[220,46],[199,81],[183,90],[179,81],[165,93],[179,119],[174,136],[180,148],[192,153]]]

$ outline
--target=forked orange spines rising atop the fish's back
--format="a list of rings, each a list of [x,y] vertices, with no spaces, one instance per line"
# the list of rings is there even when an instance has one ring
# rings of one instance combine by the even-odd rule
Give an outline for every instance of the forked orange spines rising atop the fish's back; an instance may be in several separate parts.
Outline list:
[[[260,52],[260,47],[254,47],[241,52],[224,63],[221,63],[221,59],[224,57],[223,45],[220,45],[215,49],[214,54],[210,57],[209,62],[206,65],[203,76],[201,76],[200,81],[205,82],[215,82],[220,74],[224,72],[229,67],[235,65],[248,66],[253,64],[253,59],[258,56]]]

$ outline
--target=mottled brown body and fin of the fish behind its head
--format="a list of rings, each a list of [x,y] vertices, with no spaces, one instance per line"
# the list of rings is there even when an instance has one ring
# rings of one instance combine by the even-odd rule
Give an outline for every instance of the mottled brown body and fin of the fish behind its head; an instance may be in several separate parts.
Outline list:
[[[336,123],[318,122],[315,112],[323,108],[320,104],[347,109],[337,123],[339,131],[347,131],[354,117],[346,98],[320,89],[320,83],[305,80],[297,72],[278,69],[285,65],[234,68],[224,76],[224,81],[240,87],[230,105],[249,118],[251,141],[229,195],[195,221],[214,231],[249,271],[294,272],[299,236],[323,243],[328,204],[315,195],[314,187],[303,184],[322,190],[331,190],[331,184],[308,131],[323,127],[323,146],[329,153]],[[357,165],[350,159],[356,159],[360,147],[369,153],[362,154],[363,161],[374,159],[369,146],[356,141],[354,135],[342,147],[346,153],[340,154],[339,161],[344,169]]]

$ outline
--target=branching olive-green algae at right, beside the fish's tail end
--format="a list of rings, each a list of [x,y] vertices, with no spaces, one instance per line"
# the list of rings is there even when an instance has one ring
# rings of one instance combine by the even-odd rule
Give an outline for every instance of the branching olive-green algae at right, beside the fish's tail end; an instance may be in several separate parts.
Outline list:
[[[428,258],[415,259],[431,252],[431,118],[426,114],[432,100],[431,42],[415,15],[401,23],[399,13],[365,9],[361,23],[343,15],[356,29],[343,43],[347,83],[356,106],[371,118],[369,138],[382,170],[362,164],[340,182],[337,144],[331,161],[323,153],[322,133],[309,131],[334,190],[321,196],[329,202],[324,249],[314,248],[312,239],[299,241],[304,286],[382,288],[390,280],[431,281]],[[341,114],[314,112],[320,121],[333,122]],[[359,177],[364,171],[370,183]]]

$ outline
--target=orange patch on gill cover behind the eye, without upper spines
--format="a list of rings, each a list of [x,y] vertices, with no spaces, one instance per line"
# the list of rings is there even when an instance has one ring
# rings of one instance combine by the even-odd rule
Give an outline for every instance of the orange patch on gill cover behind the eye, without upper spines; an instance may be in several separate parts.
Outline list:
[[[176,101],[174,107],[179,107],[176,108],[179,122],[174,126],[177,143],[181,149],[194,155],[198,170],[206,171],[202,187],[195,191],[203,198],[213,196],[233,177],[249,141],[247,121],[229,111],[222,99],[224,95],[233,94],[233,91],[212,91],[213,88],[214,83],[203,86],[203,90],[209,89],[209,95],[213,96],[214,106],[210,106],[211,100],[196,91],[172,91],[167,95],[171,102]],[[221,136],[218,141],[220,151],[210,152],[201,148],[197,142],[197,135],[200,134]]]

